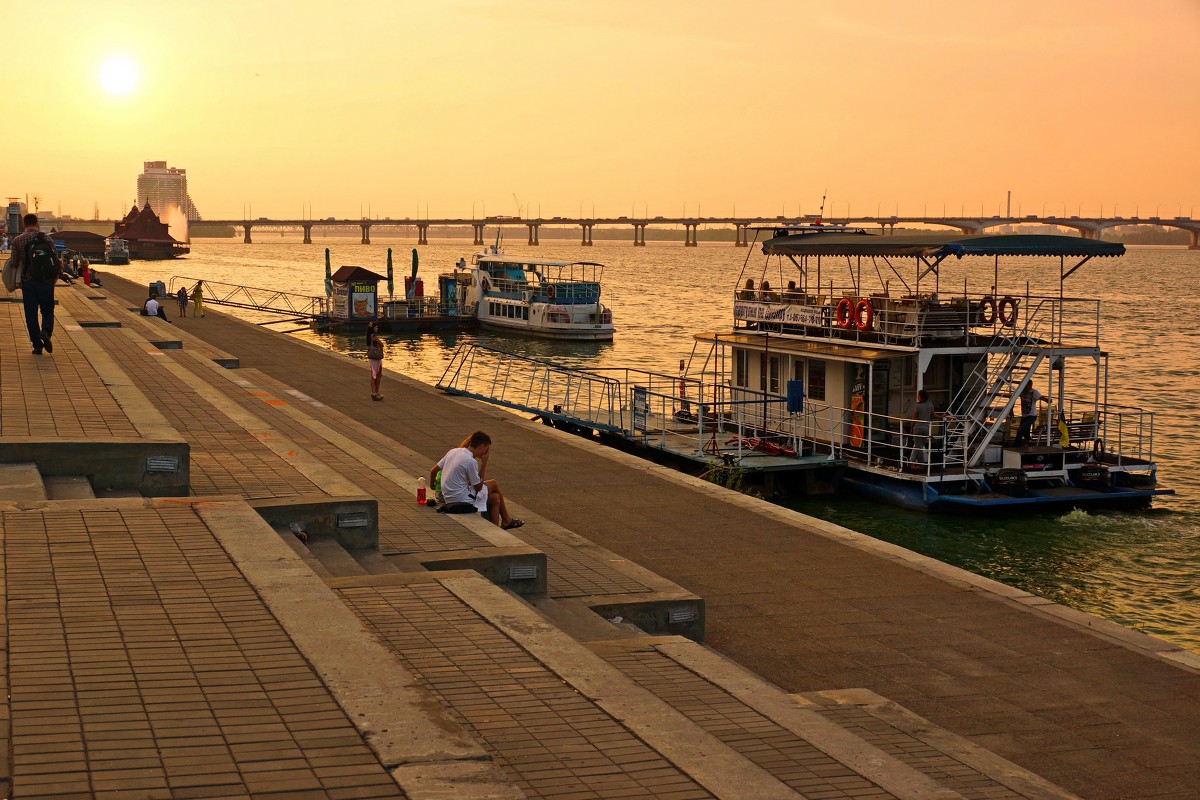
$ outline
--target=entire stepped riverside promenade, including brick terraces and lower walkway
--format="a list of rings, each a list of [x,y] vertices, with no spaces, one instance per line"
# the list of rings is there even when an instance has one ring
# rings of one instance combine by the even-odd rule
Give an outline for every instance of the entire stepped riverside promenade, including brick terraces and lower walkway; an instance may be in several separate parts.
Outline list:
[[[1200,794],[1178,648],[106,277],[0,303],[12,796]]]

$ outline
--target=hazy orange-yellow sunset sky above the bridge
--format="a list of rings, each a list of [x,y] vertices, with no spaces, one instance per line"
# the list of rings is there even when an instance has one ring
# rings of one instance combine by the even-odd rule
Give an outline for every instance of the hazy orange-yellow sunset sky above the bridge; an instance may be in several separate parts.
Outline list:
[[[1200,0],[0,10],[0,193],[78,216],[149,160],[206,218],[1200,212]]]

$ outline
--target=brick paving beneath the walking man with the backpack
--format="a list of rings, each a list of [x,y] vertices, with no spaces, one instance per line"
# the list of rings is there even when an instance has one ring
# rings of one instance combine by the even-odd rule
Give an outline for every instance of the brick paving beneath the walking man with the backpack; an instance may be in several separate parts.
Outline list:
[[[19,302],[0,302],[0,437],[137,437],[95,367],[55,319],[54,354],[34,355]]]

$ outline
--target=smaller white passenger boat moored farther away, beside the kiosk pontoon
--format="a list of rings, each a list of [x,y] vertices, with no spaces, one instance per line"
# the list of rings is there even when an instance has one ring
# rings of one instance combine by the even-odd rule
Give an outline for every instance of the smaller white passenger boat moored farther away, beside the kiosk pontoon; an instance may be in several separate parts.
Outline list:
[[[460,263],[464,303],[482,327],[558,339],[611,339],[612,311],[600,302],[604,265],[505,255],[492,246]]]

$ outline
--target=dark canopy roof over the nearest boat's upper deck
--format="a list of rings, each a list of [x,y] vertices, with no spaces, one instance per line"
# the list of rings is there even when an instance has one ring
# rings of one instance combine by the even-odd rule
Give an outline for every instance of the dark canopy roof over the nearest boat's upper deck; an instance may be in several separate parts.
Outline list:
[[[1056,234],[996,234],[964,236],[953,234],[902,234],[881,236],[866,231],[826,233],[808,231],[799,235],[774,236],[762,243],[767,255],[866,255],[866,257],[932,257],[955,255],[1062,255],[1091,258],[1123,255],[1124,245],[1063,236]]]

